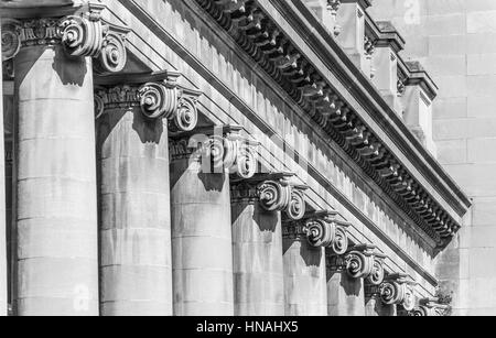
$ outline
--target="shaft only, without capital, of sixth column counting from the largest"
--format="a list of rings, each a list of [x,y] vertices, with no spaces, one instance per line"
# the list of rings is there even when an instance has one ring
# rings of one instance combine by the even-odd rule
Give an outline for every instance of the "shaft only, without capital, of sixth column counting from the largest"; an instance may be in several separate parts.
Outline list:
[[[365,316],[364,280],[327,270],[327,308],[330,316]]]

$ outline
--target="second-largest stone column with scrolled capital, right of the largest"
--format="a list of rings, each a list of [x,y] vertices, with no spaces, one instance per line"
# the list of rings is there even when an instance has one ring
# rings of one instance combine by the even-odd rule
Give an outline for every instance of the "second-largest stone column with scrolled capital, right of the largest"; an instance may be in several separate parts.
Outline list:
[[[161,73],[97,80],[104,316],[172,315],[168,129],[196,126],[198,97],[176,78]]]

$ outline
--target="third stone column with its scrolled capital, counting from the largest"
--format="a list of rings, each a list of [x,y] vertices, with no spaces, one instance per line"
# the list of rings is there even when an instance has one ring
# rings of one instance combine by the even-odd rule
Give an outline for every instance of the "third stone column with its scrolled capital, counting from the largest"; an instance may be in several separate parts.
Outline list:
[[[256,172],[256,153],[238,127],[171,138],[174,315],[233,316],[229,173]]]

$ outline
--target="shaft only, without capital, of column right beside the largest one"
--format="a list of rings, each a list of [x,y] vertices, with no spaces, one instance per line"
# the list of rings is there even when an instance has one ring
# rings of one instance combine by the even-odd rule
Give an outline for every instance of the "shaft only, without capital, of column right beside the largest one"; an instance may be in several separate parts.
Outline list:
[[[172,315],[168,120],[140,107],[98,120],[100,312]]]

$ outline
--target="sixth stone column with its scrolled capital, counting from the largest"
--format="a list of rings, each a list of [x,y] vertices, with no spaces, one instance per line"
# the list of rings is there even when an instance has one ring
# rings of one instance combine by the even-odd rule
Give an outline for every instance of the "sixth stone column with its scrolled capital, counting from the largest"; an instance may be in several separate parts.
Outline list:
[[[384,280],[382,257],[373,246],[355,246],[344,254],[327,255],[327,294],[330,316],[365,316],[364,283],[380,285]]]

